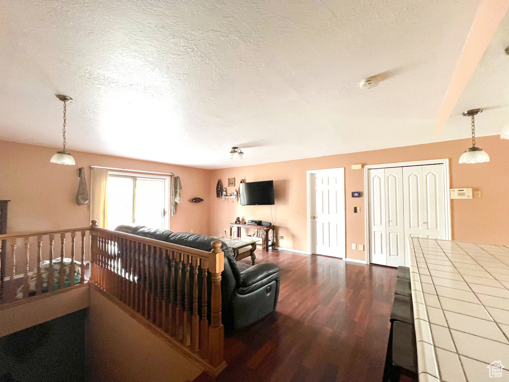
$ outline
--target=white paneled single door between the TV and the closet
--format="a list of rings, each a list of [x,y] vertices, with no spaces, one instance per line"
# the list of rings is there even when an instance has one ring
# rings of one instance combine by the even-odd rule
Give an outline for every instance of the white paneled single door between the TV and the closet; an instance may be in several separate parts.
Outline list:
[[[344,258],[345,169],[310,173],[309,188],[311,252]]]

